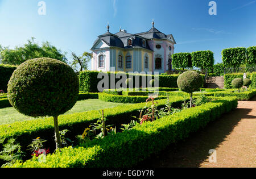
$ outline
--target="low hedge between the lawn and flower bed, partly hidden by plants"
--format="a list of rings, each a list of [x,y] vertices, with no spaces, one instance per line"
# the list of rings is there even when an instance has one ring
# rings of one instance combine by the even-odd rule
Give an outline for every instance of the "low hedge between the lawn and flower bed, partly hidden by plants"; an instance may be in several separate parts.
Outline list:
[[[175,97],[170,99],[173,107],[180,107],[183,103],[183,98]],[[157,106],[163,107],[166,104],[166,99],[158,100]],[[116,126],[123,123],[130,123],[130,116],[139,117],[141,110],[146,103],[126,104],[104,110],[104,115],[108,119],[107,124],[115,124]],[[86,111],[84,113],[66,114],[59,116],[60,130],[68,129],[68,138],[75,138],[76,135],[81,135],[85,128],[91,123],[97,122],[101,118],[101,114],[97,110]],[[49,145],[55,146],[53,141],[54,125],[53,118],[26,120],[23,122],[15,122],[11,124],[3,124],[0,126],[0,138],[16,138],[16,141],[24,148],[27,147],[33,139],[40,137],[48,140]],[[50,143],[51,142],[51,143]],[[1,151],[1,148],[0,148]]]

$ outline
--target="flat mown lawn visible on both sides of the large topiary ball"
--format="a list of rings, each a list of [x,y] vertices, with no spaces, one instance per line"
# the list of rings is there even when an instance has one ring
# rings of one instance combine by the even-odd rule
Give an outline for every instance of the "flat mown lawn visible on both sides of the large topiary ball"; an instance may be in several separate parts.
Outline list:
[[[90,111],[90,110],[101,110],[101,109],[106,109],[106,108],[115,107],[119,105],[123,105],[123,104],[100,101],[99,99],[87,99],[84,101],[77,101],[76,105],[65,114],[81,113],[81,112]],[[20,114],[13,107],[0,109],[0,125],[10,124],[10,123],[13,123],[16,121],[22,121],[22,120],[31,120],[31,119],[35,119],[35,118],[31,118],[29,116]]]

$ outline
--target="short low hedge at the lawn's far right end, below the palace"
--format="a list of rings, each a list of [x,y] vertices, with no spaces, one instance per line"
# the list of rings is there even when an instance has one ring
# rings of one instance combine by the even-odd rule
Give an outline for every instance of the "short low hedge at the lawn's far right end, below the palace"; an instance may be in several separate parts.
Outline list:
[[[147,96],[137,95],[137,96],[125,96],[125,95],[114,95],[99,93],[98,99],[106,102],[117,102],[117,103],[142,103],[147,100]],[[156,99],[166,99],[166,96],[159,96]]]

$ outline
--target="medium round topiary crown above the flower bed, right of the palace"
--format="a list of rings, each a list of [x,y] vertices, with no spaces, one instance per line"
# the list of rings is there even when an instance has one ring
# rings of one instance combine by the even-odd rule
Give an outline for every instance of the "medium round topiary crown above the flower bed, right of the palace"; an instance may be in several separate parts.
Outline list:
[[[177,85],[181,91],[193,93],[200,90],[203,79],[199,73],[189,70],[180,74],[177,78]]]

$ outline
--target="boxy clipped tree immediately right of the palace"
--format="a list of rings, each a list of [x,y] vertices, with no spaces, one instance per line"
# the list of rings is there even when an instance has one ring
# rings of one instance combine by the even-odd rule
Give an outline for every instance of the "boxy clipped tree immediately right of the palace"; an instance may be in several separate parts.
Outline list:
[[[190,53],[175,53],[172,55],[172,65],[174,68],[191,68],[191,54]]]

